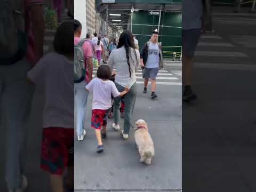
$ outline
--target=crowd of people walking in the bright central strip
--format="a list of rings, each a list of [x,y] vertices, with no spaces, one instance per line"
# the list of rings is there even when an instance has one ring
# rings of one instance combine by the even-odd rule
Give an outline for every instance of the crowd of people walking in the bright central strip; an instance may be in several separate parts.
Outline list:
[[[128,139],[132,116],[137,97],[137,77],[136,72],[139,66],[143,69],[143,78],[145,78],[145,87],[143,93],[147,92],[149,79],[151,81],[151,99],[156,99],[156,77],[159,68],[163,68],[162,47],[158,43],[158,31],[153,31],[149,42],[145,42],[139,52],[139,42],[130,31],[125,30],[117,39],[107,38],[94,34],[86,35],[84,41],[81,37],[82,25],[78,20],[75,25],[75,44],[82,42],[84,51],[85,66],[91,71],[91,60],[97,59],[99,68],[97,75],[92,78],[91,73],[86,73],[86,78],[81,83],[75,84],[75,102],[76,102],[76,129],[78,141],[82,141],[86,134],[84,127],[85,115],[87,114],[87,98],[89,92],[93,93],[91,127],[95,129],[95,135],[98,141],[97,152],[104,150],[102,138],[107,138],[107,118],[111,110],[112,100],[114,100],[114,123],[111,127],[115,131],[121,130],[123,139]],[[89,43],[87,43],[89,42]],[[90,44],[91,42],[91,44]],[[89,50],[90,49],[90,50]],[[93,55],[93,52],[95,54]],[[102,62],[101,62],[102,61]],[[90,63],[90,64],[89,64]],[[90,74],[90,75],[89,75]],[[115,81],[110,81],[112,77]],[[79,91],[76,87],[79,87]],[[81,92],[81,93],[79,93]],[[120,125],[121,101],[124,101],[124,124]],[[86,113],[85,113],[86,111]]]

